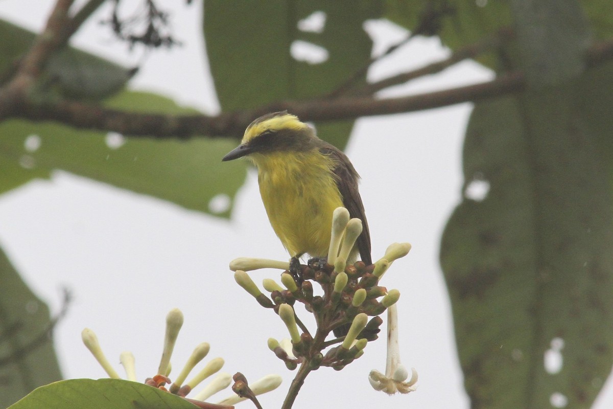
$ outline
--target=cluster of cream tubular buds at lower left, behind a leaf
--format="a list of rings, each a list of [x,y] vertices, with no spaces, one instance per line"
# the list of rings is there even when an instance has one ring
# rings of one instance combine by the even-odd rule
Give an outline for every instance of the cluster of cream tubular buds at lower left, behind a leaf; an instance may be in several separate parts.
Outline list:
[[[211,377],[215,373],[218,373],[219,370],[224,365],[224,359],[221,357],[216,357],[211,359],[204,368],[202,368],[194,377],[191,378],[187,383],[184,384],[185,380],[188,378],[189,373],[202,361],[208,354],[210,350],[210,345],[206,342],[200,343],[196,346],[188,361],[181,369],[175,381],[172,382],[169,378],[171,365],[170,365],[170,357],[172,357],[172,351],[174,350],[175,342],[177,341],[177,337],[179,331],[183,326],[183,313],[181,313],[178,308],[174,308],[171,310],[166,316],[166,333],[164,335],[164,348],[162,350],[162,358],[159,363],[158,373],[154,375],[152,378],[147,378],[145,380],[145,384],[153,386],[154,388],[162,389],[164,391],[168,391],[172,394],[175,394],[180,397],[186,398],[187,394],[192,391],[192,389],[196,388],[196,386],[205,379]],[[112,365],[109,363],[109,360],[106,358],[105,354],[102,352],[102,348],[98,342],[96,334],[89,329],[85,328],[82,332],[82,339],[85,346],[91,351],[93,356],[102,365],[102,368],[109,375],[110,378],[120,379],[118,373],[113,369]],[[135,370],[135,360],[134,355],[131,352],[123,352],[120,355],[120,362],[126,370],[126,375],[129,381],[136,381],[136,370]],[[276,389],[281,384],[281,377],[278,375],[268,375],[261,380],[258,380],[251,384],[249,387],[246,386],[246,380],[243,379],[242,375],[237,373],[234,375],[235,386],[239,383],[237,378],[240,378],[240,384],[245,385],[243,390],[247,389],[247,395],[251,394],[253,397],[268,391],[272,391]],[[202,391],[200,391],[193,399],[188,399],[190,402],[202,408],[231,408],[230,405],[234,405],[234,403],[240,402],[242,400],[248,399],[247,397],[238,396],[238,394],[232,394],[232,396],[227,397],[224,400],[214,404],[207,403],[209,397],[213,394],[226,389],[230,383],[232,383],[232,375],[226,372],[218,373],[213,380],[205,386]],[[168,387],[166,385],[169,385]],[[235,387],[233,387],[234,390]]]

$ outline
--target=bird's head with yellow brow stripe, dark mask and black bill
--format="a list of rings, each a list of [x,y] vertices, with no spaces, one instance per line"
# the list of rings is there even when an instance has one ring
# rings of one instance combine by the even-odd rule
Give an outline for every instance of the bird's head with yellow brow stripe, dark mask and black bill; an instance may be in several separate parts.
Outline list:
[[[305,151],[317,139],[313,128],[287,111],[267,113],[253,121],[237,148],[223,161],[231,161],[252,153],[266,155],[278,151]]]

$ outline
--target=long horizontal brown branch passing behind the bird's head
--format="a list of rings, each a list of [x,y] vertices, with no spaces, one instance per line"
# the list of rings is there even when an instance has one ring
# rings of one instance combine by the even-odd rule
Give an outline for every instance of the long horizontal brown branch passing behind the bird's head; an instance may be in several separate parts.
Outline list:
[[[124,112],[85,102],[62,101],[46,105],[24,102],[19,112],[13,113],[12,117],[32,121],[53,120],[75,128],[115,131],[132,137],[240,137],[253,118],[273,111],[286,109],[303,121],[347,120],[480,101],[520,91],[523,86],[523,75],[514,72],[489,82],[400,98],[343,97],[332,100],[281,101],[257,109],[226,112],[217,116]]]

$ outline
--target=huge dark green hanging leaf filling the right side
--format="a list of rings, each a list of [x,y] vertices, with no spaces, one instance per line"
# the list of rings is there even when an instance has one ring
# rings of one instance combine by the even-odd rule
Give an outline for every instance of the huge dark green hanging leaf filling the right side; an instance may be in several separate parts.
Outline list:
[[[613,64],[477,104],[441,265],[473,408],[588,408],[613,364]],[[479,182],[481,181],[481,182]],[[547,371],[547,351],[562,367]]]

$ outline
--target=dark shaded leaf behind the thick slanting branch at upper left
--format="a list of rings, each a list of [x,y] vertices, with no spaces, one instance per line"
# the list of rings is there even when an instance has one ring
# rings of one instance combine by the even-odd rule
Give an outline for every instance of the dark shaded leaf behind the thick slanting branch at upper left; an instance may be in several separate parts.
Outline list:
[[[34,32],[0,20],[0,38],[0,78],[8,78],[18,59],[29,50]],[[65,96],[102,99],[121,90],[133,74],[133,70],[66,47],[49,60],[39,91],[52,89]]]

